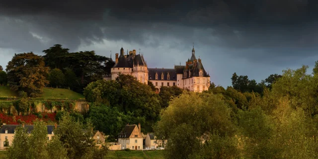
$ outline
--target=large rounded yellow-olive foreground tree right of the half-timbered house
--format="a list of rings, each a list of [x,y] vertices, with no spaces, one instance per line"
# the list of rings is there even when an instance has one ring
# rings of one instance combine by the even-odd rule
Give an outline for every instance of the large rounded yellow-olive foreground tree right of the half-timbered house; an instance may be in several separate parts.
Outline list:
[[[207,143],[210,143],[213,134],[225,140],[235,140],[230,113],[231,109],[220,94],[184,92],[174,98],[162,110],[161,120],[155,128],[160,138],[168,140],[166,158],[192,159],[200,156],[200,150],[209,145]],[[211,151],[205,152],[207,154],[202,158],[214,155]],[[217,153],[222,154],[222,149]]]

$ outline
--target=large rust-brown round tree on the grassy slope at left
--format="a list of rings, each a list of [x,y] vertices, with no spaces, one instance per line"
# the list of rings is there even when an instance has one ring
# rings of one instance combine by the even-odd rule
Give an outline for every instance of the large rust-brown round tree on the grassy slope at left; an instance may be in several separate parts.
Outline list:
[[[6,67],[8,83],[14,91],[23,90],[31,97],[38,97],[43,87],[48,84],[46,75],[49,68],[45,67],[41,56],[32,52],[14,54]]]

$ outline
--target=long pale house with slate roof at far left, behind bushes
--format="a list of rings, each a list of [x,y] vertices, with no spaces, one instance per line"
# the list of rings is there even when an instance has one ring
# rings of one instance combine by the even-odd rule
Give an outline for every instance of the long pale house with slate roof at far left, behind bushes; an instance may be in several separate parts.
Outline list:
[[[12,140],[14,138],[14,130],[16,127],[22,126],[27,129],[28,134],[31,134],[33,131],[33,125],[6,125],[3,124],[0,128],[0,149],[4,149],[12,144]],[[48,136],[47,139],[51,140],[52,136],[54,136],[54,130],[58,127],[57,124],[47,125]]]

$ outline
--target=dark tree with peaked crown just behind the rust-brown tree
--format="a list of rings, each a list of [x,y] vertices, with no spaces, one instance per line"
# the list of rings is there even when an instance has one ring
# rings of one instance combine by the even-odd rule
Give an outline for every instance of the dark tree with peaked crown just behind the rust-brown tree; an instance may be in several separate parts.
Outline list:
[[[50,47],[47,50],[43,50],[45,54],[43,56],[46,66],[51,69],[64,69],[63,66],[63,57],[69,53],[69,49],[62,48],[61,44],[55,44],[53,47]]]

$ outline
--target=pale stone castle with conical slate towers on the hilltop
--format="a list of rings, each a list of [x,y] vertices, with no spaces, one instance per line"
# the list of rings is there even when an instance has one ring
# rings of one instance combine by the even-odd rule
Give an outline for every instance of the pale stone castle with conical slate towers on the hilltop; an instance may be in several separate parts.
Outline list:
[[[208,90],[210,86],[210,76],[203,68],[201,59],[196,59],[194,46],[192,56],[185,62],[185,66],[174,65],[173,69],[148,68],[144,56],[140,53],[136,55],[136,50],[120,49],[120,55],[116,54],[115,65],[111,69],[111,79],[115,80],[119,74],[132,75],[142,83],[148,84],[148,80],[153,82],[156,92],[159,92],[161,86],[176,85],[182,89],[188,89],[194,92]]]

